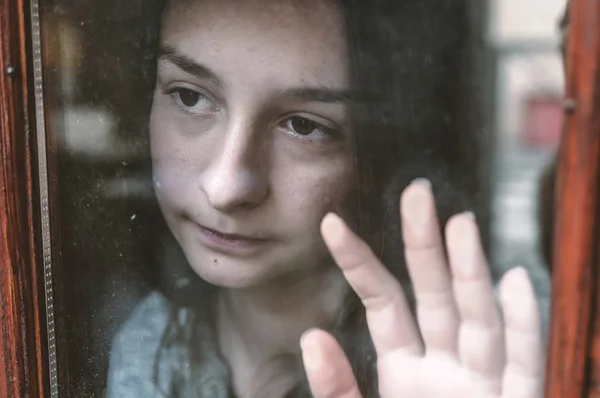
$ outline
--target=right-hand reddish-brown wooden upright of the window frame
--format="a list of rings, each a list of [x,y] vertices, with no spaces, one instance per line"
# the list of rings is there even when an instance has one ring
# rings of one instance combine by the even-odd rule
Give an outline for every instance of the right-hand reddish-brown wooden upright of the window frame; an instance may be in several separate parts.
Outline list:
[[[546,397],[600,396],[600,2],[571,0]]]

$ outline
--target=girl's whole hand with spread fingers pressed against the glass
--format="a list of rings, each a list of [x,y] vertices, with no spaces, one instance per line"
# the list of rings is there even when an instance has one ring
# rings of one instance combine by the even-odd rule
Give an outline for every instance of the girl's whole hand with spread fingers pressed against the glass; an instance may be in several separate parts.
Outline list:
[[[327,215],[322,223],[327,247],[365,306],[380,396],[541,397],[540,315],[525,270],[515,268],[502,279],[502,319],[472,214],[448,222],[448,259],[426,181],[404,191],[401,216],[416,322],[401,285],[368,246],[336,215]],[[362,397],[331,335],[308,331],[301,346],[315,398]]]

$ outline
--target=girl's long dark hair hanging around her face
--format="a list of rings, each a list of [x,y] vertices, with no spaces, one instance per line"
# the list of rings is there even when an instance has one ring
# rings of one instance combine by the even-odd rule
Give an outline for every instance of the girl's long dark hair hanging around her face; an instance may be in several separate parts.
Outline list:
[[[428,178],[442,223],[465,208],[479,210],[472,202],[479,191],[479,172],[484,172],[477,158],[481,115],[476,102],[478,75],[473,69],[473,50],[478,46],[473,40],[479,36],[472,31],[472,6],[467,0],[343,0],[340,4],[349,44],[356,153],[352,203],[358,217],[350,221],[393,274],[407,282],[398,216],[401,190],[414,178]],[[147,32],[152,51],[162,7],[164,2],[156,1],[148,18],[153,24]],[[156,60],[146,61],[154,63],[149,67],[150,75],[154,74]],[[191,271],[157,206],[143,219],[153,224],[152,228],[140,224],[138,231],[152,242],[146,250],[148,262],[154,264],[148,277],[174,303],[158,363],[174,347],[190,340],[210,340],[202,324],[212,316],[215,289]],[[165,231],[158,244],[157,225]],[[168,267],[162,266],[166,262]],[[174,280],[182,277],[192,282],[177,287]],[[182,307],[193,314],[193,322],[178,322]],[[346,351],[363,396],[376,397],[376,357],[364,315],[351,294],[331,332]],[[201,348],[187,348],[182,355],[199,366],[205,359]],[[170,391],[172,397],[194,390],[186,386],[194,378],[180,377],[181,383],[176,384],[183,387]],[[310,396],[307,384],[301,383],[293,395]]]

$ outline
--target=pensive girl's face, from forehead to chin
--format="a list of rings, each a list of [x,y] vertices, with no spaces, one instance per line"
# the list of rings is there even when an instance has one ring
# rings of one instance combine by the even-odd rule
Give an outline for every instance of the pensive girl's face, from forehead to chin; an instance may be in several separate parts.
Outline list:
[[[155,190],[193,269],[257,286],[322,266],[352,154],[339,5],[173,0],[150,121]]]

